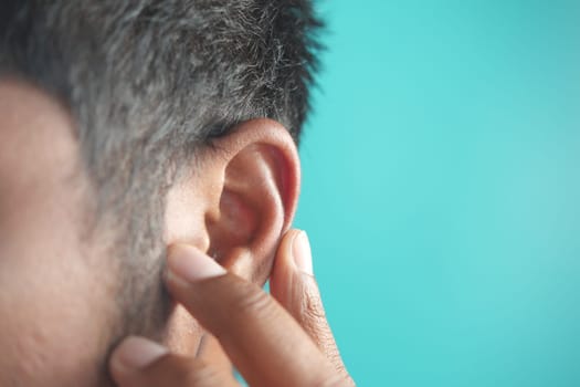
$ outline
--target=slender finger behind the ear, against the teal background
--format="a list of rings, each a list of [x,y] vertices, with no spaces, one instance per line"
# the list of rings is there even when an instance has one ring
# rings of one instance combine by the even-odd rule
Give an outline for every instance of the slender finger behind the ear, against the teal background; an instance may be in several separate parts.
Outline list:
[[[335,368],[347,376],[313,276],[306,232],[291,230],[284,236],[270,278],[270,292],[296,318]]]

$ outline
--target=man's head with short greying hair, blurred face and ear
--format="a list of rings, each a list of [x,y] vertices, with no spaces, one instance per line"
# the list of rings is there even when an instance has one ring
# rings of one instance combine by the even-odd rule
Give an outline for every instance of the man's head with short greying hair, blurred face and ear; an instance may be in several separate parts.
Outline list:
[[[318,25],[308,1],[0,4],[1,385],[105,383],[126,333],[196,351],[169,243],[265,280]]]

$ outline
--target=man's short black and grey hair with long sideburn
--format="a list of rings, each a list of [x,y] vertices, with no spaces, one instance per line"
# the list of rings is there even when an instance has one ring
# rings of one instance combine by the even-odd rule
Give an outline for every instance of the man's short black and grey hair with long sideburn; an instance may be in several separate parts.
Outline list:
[[[75,122],[97,218],[115,224],[131,273],[127,313],[152,307],[143,278],[159,275],[165,197],[196,149],[254,117],[298,140],[320,27],[307,0],[1,2],[0,77],[38,86]]]

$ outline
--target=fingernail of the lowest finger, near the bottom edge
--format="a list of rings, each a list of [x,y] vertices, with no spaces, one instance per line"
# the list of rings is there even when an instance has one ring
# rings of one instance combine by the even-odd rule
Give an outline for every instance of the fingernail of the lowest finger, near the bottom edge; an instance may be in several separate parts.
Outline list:
[[[120,372],[139,370],[168,353],[160,344],[145,337],[130,336],[123,341],[110,359],[112,366]]]

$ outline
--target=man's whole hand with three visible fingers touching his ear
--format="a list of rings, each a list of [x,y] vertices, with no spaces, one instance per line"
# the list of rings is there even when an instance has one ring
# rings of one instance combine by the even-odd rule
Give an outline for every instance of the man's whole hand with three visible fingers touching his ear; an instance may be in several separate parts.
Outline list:
[[[280,244],[273,297],[189,245],[171,248],[167,266],[169,292],[213,336],[196,358],[126,338],[109,364],[119,386],[239,386],[229,359],[251,386],[355,385],[325,317],[304,231],[291,230]],[[217,355],[221,348],[228,357]]]

